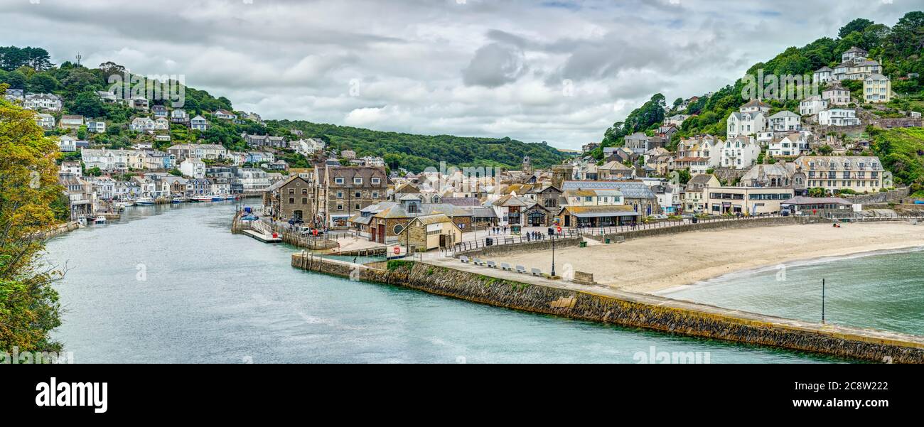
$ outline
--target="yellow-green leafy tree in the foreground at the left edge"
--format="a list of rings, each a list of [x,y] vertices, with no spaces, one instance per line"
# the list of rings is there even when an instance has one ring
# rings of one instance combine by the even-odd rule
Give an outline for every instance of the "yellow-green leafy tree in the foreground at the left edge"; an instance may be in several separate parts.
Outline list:
[[[0,85],[0,90],[6,90]],[[2,91],[0,91],[2,92]],[[49,331],[61,322],[51,283],[59,277],[37,265],[41,233],[55,225],[61,188],[57,145],[34,113],[0,100],[0,350],[58,351]],[[60,207],[60,206],[59,206]]]

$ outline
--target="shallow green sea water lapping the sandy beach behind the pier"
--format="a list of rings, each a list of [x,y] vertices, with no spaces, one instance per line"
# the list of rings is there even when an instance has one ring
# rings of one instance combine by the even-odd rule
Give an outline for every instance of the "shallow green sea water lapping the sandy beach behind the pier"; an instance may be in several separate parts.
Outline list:
[[[924,335],[924,250],[821,259],[727,275],[666,292],[675,299],[821,322]]]

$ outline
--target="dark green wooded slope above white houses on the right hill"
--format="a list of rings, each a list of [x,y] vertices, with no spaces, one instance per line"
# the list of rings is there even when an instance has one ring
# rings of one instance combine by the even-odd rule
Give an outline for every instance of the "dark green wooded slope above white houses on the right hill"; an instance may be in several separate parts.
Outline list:
[[[924,111],[924,79],[897,79],[909,73],[924,74],[924,12],[909,12],[890,28],[869,19],[857,18],[843,27],[836,38],[821,38],[803,47],[790,47],[771,60],[748,68],[748,75],[756,75],[763,69],[765,75],[811,75],[821,67],[834,67],[841,62],[841,54],[852,46],[869,51],[870,58],[881,59],[883,74],[893,77],[893,91],[902,95],[890,106],[913,111]],[[700,95],[699,101],[687,108],[679,106],[684,102],[677,99],[667,104],[660,93],[629,114],[625,120],[614,123],[602,139],[602,147],[616,147],[623,144],[623,137],[638,131],[651,131],[663,123],[665,116],[675,114],[693,115],[685,121],[675,134],[670,148],[677,140],[698,134],[724,136],[725,119],[748,99],[742,96],[745,83],[738,79],[732,85],[716,90],[711,96]],[[847,82],[845,86],[857,96],[862,92],[862,82]],[[772,114],[780,110],[798,112],[798,100],[771,100]],[[664,107],[668,107],[665,108]],[[920,141],[924,144],[924,140]],[[601,150],[593,153],[602,158]]]

